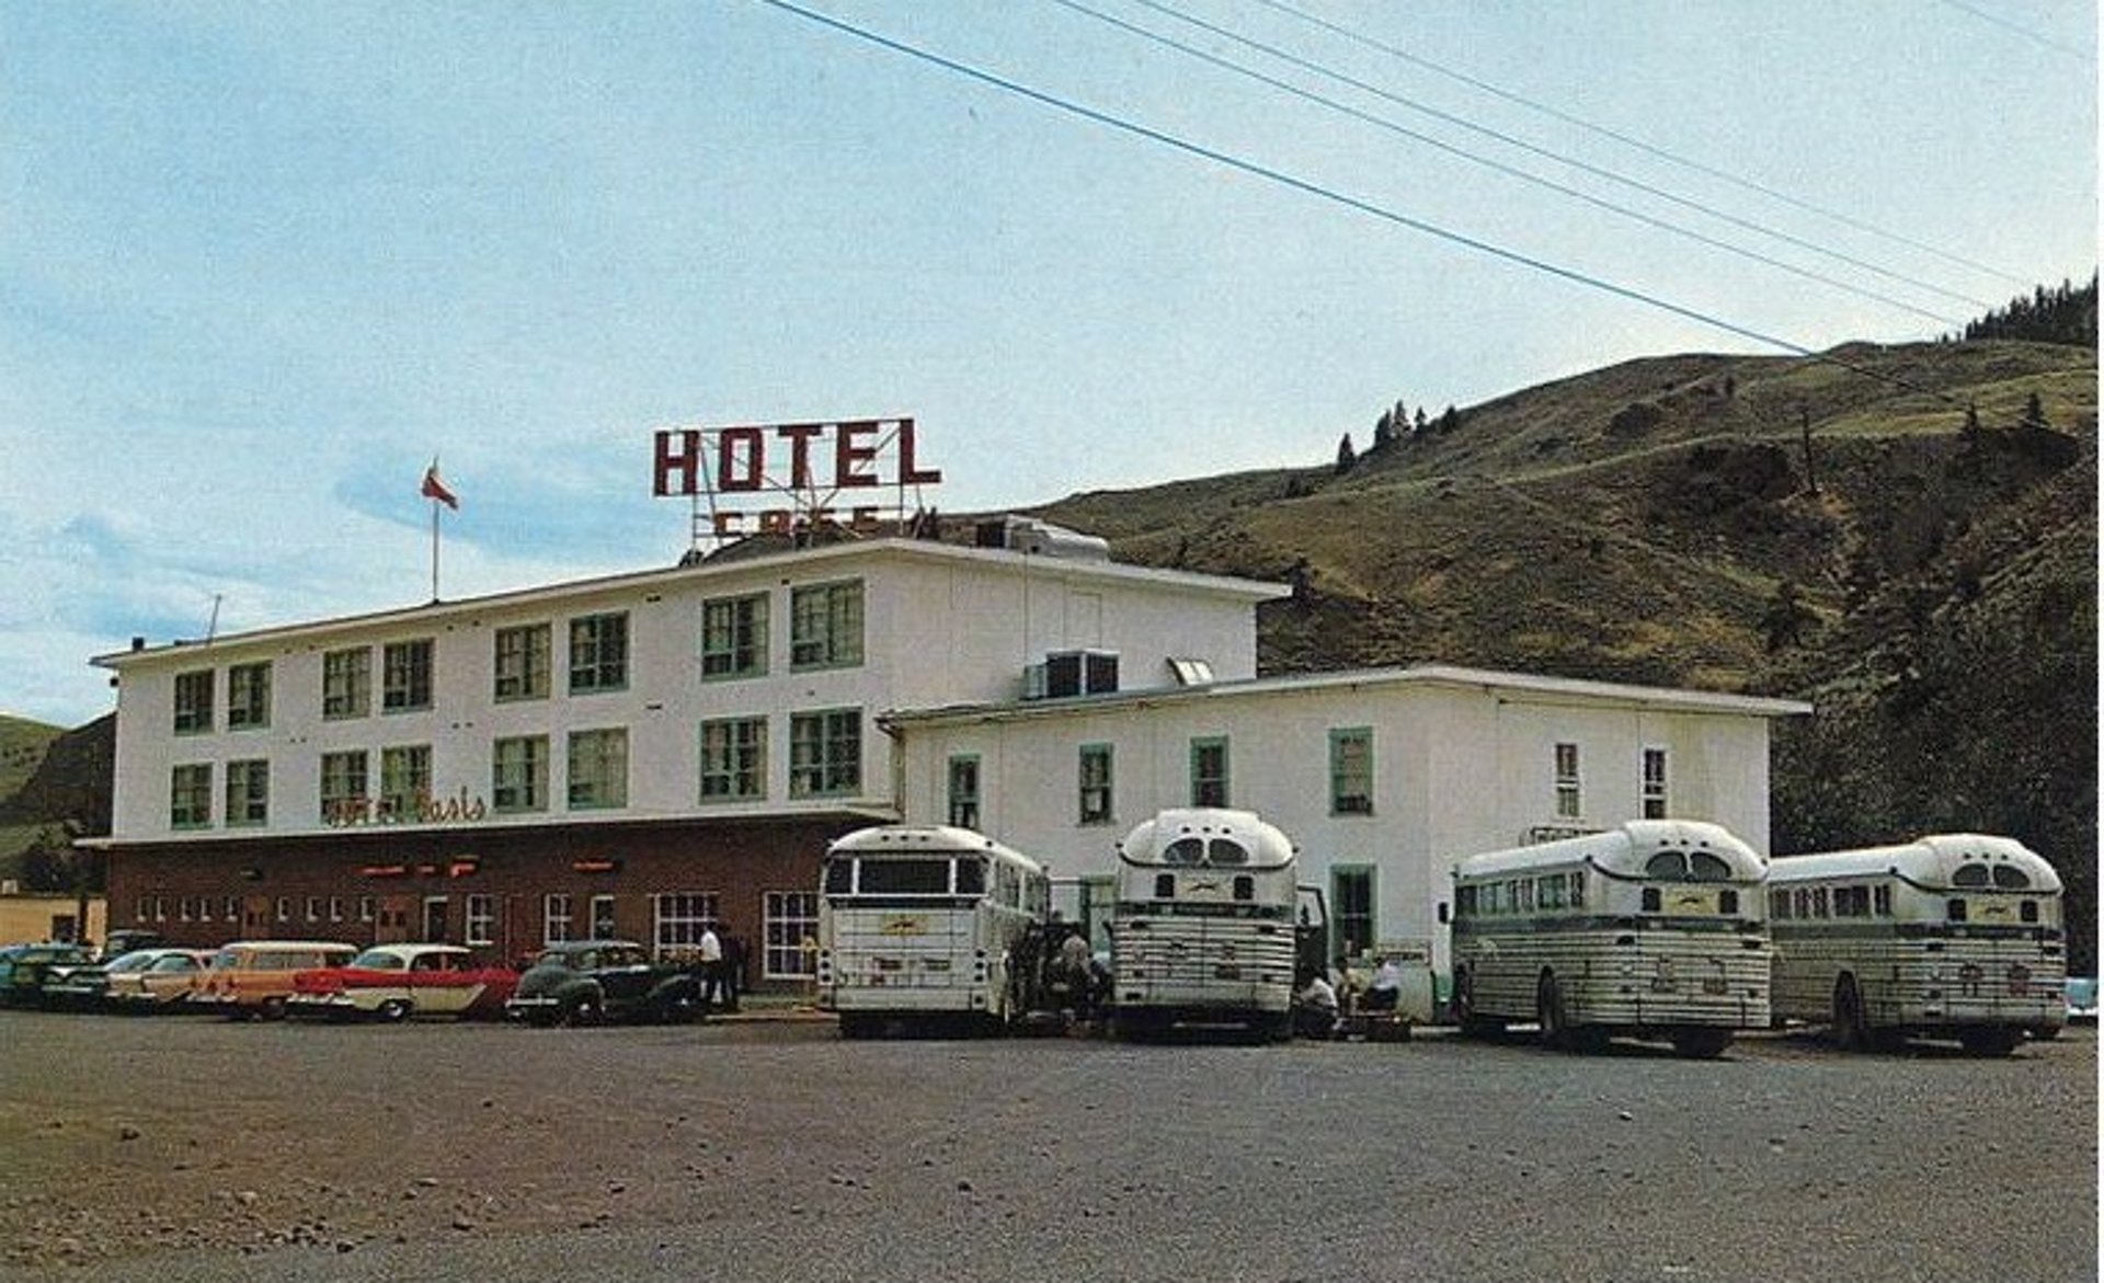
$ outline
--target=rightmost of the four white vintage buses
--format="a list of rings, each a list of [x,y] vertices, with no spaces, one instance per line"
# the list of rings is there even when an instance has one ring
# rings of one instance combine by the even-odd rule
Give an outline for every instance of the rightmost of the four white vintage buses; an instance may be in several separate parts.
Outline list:
[[[1959,1039],[2005,1056],[2066,1022],[2060,875],[2009,837],[1788,856],[1767,871],[1776,1016],[1845,1047]]]

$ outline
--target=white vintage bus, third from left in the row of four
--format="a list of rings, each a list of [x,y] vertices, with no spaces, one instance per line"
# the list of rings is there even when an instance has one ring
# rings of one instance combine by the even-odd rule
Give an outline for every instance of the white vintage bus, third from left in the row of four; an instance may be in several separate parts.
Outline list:
[[[1469,856],[1454,867],[1454,1018],[1536,1022],[1553,1047],[1668,1039],[1719,1056],[1769,1022],[1767,860],[1696,820]]]

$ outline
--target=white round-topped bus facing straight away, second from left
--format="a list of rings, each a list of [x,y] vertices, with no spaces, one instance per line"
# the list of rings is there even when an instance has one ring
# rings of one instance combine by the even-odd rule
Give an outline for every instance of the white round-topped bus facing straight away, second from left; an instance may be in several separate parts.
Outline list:
[[[1292,1037],[1298,852],[1246,810],[1166,810],[1117,848],[1111,1029]]]

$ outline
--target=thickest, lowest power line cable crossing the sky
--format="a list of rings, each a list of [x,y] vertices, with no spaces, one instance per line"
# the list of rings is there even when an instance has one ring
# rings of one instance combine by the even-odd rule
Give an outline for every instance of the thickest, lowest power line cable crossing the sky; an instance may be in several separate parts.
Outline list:
[[[1071,99],[1063,99],[1063,97],[1046,93],[1041,88],[1031,88],[1029,84],[1023,84],[1023,82],[1016,82],[1016,80],[1008,80],[1008,78],[997,76],[993,72],[985,72],[980,67],[974,67],[970,63],[959,63],[957,59],[938,55],[938,53],[928,50],[928,48],[919,48],[915,44],[907,44],[903,40],[894,40],[894,38],[884,36],[879,32],[871,32],[867,27],[856,27],[854,23],[848,23],[848,21],[837,19],[833,15],[827,15],[827,13],[804,8],[802,4],[793,4],[791,0],[753,0],[753,2],[755,4],[766,4],[768,8],[776,8],[776,11],[793,15],[793,17],[800,17],[800,19],[804,19],[808,23],[816,23],[821,27],[827,27],[827,29],[837,32],[842,36],[848,36],[852,40],[861,40],[865,44],[873,44],[877,48],[886,48],[890,53],[898,53],[898,55],[905,55],[909,59],[928,63],[932,67],[940,67],[945,72],[964,76],[968,80],[976,80],[980,84],[989,84],[993,88],[999,88],[1004,93],[1016,95],[1020,99],[1029,99],[1029,101],[1033,101],[1033,103],[1037,103],[1041,107],[1052,107],[1054,111],[1060,111],[1060,114],[1067,114],[1067,116],[1077,116],[1081,120],[1090,120],[1094,124],[1100,124],[1105,128],[1113,128],[1117,133],[1126,133],[1126,135],[1132,135],[1132,137],[1138,137],[1138,139],[1147,139],[1151,143],[1161,143],[1164,147],[1170,147],[1174,151],[1182,151],[1187,156],[1197,156],[1199,160],[1210,160],[1214,164],[1239,170],[1243,175],[1250,175],[1250,177],[1256,177],[1256,179],[1265,179],[1269,183],[1277,183],[1277,185],[1288,187],[1292,191],[1300,191],[1304,196],[1315,196],[1317,200],[1328,200],[1330,204],[1340,204],[1344,208],[1357,210],[1361,215],[1370,215],[1370,217],[1380,219],[1384,223],[1395,223],[1397,227],[1410,227],[1412,231],[1422,231],[1424,236],[1433,236],[1437,240],[1445,240],[1450,244],[1458,244],[1458,246],[1477,250],[1481,254],[1490,254],[1494,259],[1504,259],[1506,263],[1517,263],[1521,267],[1532,267],[1534,271],[1540,271],[1540,273],[1546,273],[1546,276],[1555,276],[1555,278],[1561,278],[1561,280],[1567,280],[1567,282],[1574,282],[1574,284],[1599,290],[1603,294],[1614,294],[1614,297],[1626,299],[1631,303],[1641,303],[1645,307],[1652,307],[1652,309],[1658,309],[1658,311],[1666,311],[1666,313],[1679,315],[1683,320],[1692,320],[1696,324],[1708,326],[1713,330],[1721,330],[1725,334],[1738,334],[1740,339],[1751,339],[1755,343],[1763,343],[1767,347],[1774,347],[1774,349],[1780,349],[1780,351],[1788,351],[1793,355],[1801,355],[1801,358],[1807,358],[1807,360],[1814,360],[1814,362],[1820,362],[1820,364],[1828,364],[1828,366],[1835,366],[1835,368],[1841,368],[1841,370],[1849,370],[1852,374],[1860,374],[1860,376],[1873,379],[1877,383],[1887,383],[1887,385],[1900,387],[1904,391],[1923,393],[1923,395],[1936,398],[1936,400],[1953,404],[1953,406],[1959,404],[1957,398],[1953,398],[1948,393],[1936,391],[1934,387],[1921,387],[1921,385],[1908,383],[1906,379],[1900,379],[1898,374],[1887,374],[1883,370],[1870,370],[1868,366],[1860,366],[1856,362],[1841,360],[1841,358],[1833,355],[1830,351],[1814,351],[1814,349],[1809,349],[1809,347],[1805,347],[1801,343],[1793,343],[1788,339],[1780,339],[1776,334],[1767,334],[1767,332],[1755,330],[1751,326],[1742,326],[1738,322],[1729,322],[1725,318],[1711,315],[1711,313],[1700,311],[1696,307],[1687,307],[1685,303],[1673,303],[1671,299],[1662,299],[1658,294],[1647,294],[1647,292],[1631,288],[1631,286],[1622,286],[1622,284],[1616,284],[1616,282],[1610,282],[1610,280],[1603,280],[1603,278],[1597,278],[1597,276],[1589,276],[1589,273],[1578,271],[1574,267],[1563,267],[1563,265],[1551,263],[1546,259],[1536,259],[1532,254],[1523,254],[1519,250],[1509,250],[1509,248],[1492,244],[1488,240],[1477,240],[1473,236],[1466,236],[1466,233],[1460,233],[1460,231],[1452,231],[1448,227],[1439,227],[1439,225],[1427,223],[1422,219],[1414,219],[1414,217],[1403,215],[1399,210],[1391,210],[1391,208],[1374,204],[1370,200],[1361,200],[1357,196],[1349,196],[1349,194],[1338,191],[1334,187],[1323,187],[1321,183],[1294,177],[1294,175],[1290,175],[1286,170],[1277,170],[1277,168],[1258,164],[1254,160],[1243,160],[1239,156],[1231,156],[1227,151],[1218,151],[1214,147],[1206,147],[1203,143],[1193,143],[1189,139],[1180,139],[1180,137],[1176,137],[1172,133],[1153,128],[1149,124],[1140,124],[1136,120],[1126,120],[1121,116],[1113,116],[1109,111],[1100,111],[1100,109],[1090,107],[1086,103],[1075,103]]]

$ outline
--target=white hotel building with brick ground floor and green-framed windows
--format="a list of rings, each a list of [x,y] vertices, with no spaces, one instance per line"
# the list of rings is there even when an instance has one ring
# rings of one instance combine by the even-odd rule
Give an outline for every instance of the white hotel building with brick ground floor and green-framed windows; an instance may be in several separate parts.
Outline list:
[[[1445,867],[1544,829],[1671,812],[1767,846],[1769,719],[1805,705],[1445,667],[1258,677],[1256,608],[1283,585],[1018,530],[755,541],[99,656],[109,925],[511,959],[587,934],[673,951],[711,921],[766,984],[810,972],[825,843],[894,818],[983,829],[1086,896],[1157,808],[1252,808],[1359,944],[1433,940]]]

